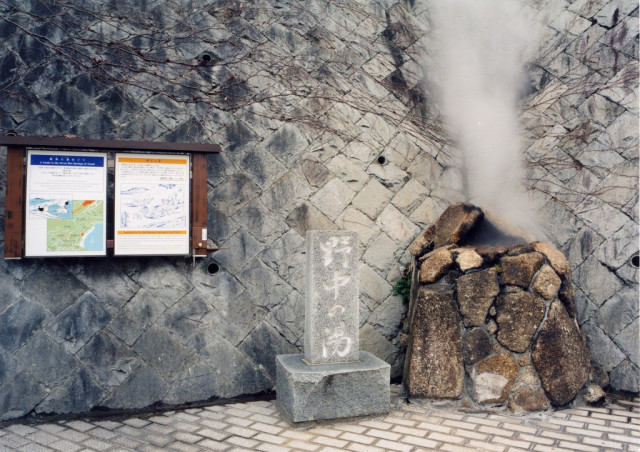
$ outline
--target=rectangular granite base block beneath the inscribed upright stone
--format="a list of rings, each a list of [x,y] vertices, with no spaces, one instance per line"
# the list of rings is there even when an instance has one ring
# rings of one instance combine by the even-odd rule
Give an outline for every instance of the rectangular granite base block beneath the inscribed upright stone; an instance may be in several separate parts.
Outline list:
[[[276,397],[292,422],[389,412],[391,366],[360,351],[359,362],[308,365],[303,354],[276,357]]]

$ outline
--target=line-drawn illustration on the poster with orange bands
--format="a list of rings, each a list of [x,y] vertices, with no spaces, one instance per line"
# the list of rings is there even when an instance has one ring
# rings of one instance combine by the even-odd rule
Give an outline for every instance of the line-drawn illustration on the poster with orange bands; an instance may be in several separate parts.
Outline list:
[[[184,184],[122,184],[120,227],[138,229],[184,228]]]

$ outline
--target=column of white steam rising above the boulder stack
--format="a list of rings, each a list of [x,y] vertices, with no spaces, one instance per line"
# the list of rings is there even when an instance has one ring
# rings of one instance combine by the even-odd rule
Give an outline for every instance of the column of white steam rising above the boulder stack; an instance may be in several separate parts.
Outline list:
[[[433,0],[427,76],[462,151],[466,196],[540,236],[523,186],[518,97],[539,27],[518,0]],[[539,237],[543,238],[543,237]]]

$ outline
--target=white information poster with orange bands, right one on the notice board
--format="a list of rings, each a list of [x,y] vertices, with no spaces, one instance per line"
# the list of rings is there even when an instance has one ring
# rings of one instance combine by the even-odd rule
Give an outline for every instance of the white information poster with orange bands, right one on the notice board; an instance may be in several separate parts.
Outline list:
[[[188,255],[190,156],[115,160],[114,255]]]

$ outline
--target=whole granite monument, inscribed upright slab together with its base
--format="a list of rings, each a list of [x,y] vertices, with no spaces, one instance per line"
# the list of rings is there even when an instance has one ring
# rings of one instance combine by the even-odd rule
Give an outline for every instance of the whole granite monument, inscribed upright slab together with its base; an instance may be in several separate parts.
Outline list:
[[[389,364],[359,350],[358,236],[307,231],[304,354],[276,357],[276,393],[293,422],[389,411]]]

